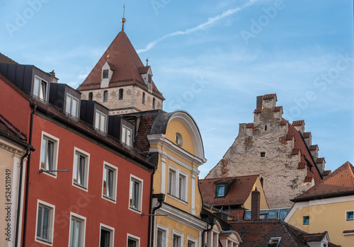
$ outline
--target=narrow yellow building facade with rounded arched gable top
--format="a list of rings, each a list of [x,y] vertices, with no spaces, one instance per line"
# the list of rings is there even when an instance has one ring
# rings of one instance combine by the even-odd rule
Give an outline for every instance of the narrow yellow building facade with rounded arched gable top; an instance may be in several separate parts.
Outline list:
[[[202,138],[188,113],[162,113],[147,136],[150,153],[159,154],[154,174],[154,246],[202,246],[207,223],[200,218],[202,198],[198,170],[205,163]]]

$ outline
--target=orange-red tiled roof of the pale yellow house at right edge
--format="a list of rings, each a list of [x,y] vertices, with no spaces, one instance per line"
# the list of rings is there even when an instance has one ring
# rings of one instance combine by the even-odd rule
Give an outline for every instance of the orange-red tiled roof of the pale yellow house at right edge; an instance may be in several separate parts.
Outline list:
[[[354,167],[348,161],[292,201],[301,202],[347,194],[354,195]]]

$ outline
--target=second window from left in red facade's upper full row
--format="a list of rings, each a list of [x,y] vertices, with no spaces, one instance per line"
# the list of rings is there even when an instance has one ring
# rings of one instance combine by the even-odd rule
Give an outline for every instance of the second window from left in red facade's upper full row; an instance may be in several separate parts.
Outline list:
[[[87,188],[89,174],[89,154],[82,150],[75,150],[73,184]]]

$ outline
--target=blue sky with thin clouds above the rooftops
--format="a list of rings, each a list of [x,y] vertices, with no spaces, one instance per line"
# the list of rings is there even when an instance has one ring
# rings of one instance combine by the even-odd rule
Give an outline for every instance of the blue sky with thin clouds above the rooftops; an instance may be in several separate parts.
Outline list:
[[[268,93],[286,120],[305,121],[326,169],[354,163],[353,1],[1,1],[0,52],[76,88],[121,30],[123,4],[164,110],[198,123],[200,178]]]

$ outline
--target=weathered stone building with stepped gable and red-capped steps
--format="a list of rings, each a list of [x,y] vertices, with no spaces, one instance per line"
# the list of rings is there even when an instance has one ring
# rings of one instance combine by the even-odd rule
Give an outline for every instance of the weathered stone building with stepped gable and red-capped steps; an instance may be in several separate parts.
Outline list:
[[[303,137],[304,121],[284,120],[275,94],[260,97],[253,122],[239,125],[234,144],[206,178],[259,174],[269,207],[291,207],[290,199],[322,179],[324,158],[320,171],[308,147],[311,134]]]

